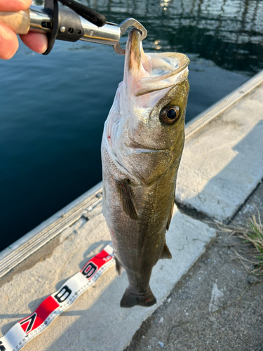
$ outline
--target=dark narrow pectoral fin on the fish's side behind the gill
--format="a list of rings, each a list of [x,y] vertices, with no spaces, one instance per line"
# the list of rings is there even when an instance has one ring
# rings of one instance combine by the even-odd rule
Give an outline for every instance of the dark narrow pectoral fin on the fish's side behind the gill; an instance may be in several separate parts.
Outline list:
[[[130,190],[130,187],[128,185],[128,180],[123,179],[123,180],[115,180],[115,185],[117,192],[119,194],[119,199],[121,201],[121,204],[123,206],[123,211],[126,213],[127,216],[130,218],[137,220],[137,211],[135,208],[135,199],[133,197],[133,194]]]

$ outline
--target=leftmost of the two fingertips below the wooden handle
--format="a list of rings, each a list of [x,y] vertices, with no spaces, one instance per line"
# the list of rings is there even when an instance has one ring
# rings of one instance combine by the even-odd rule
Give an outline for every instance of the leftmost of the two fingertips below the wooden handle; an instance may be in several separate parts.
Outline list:
[[[0,23],[0,58],[2,60],[13,58],[16,51],[18,51],[18,37],[13,30]]]

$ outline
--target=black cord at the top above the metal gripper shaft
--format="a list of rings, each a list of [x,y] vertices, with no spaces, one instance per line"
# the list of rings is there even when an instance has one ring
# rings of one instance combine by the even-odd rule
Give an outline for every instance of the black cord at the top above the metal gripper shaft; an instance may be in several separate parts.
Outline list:
[[[97,25],[97,27],[102,27],[106,23],[106,18],[104,15],[97,13],[92,8],[79,4],[79,2],[74,0],[58,0],[61,4],[71,8],[78,15],[85,18],[89,22],[93,23],[93,25]]]

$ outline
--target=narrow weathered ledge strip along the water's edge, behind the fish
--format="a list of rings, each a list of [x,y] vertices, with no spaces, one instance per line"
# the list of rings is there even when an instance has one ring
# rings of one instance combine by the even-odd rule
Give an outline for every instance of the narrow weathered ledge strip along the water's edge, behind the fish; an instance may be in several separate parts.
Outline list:
[[[248,79],[235,91],[219,100],[207,110],[198,114],[193,120],[186,124],[185,138],[191,138],[194,133],[203,128],[210,121],[222,114],[229,107],[234,105],[238,100],[243,98],[263,82],[263,71]],[[39,250],[48,241],[56,237],[66,227],[72,225],[76,220],[81,218],[84,213],[91,211],[97,204],[102,201],[102,182],[98,183],[70,204],[62,208],[53,216],[15,241],[4,251],[0,253],[0,278],[4,277],[16,265],[21,263],[27,257]]]

